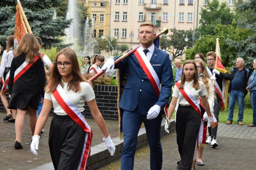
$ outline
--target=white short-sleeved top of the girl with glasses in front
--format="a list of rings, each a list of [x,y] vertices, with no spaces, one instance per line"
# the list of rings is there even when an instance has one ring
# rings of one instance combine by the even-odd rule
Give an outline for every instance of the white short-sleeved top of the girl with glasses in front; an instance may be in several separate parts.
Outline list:
[[[62,81],[63,82],[63,81]],[[70,99],[70,101],[76,105],[79,111],[84,111],[85,102],[89,102],[95,99],[95,94],[92,89],[92,86],[88,82],[80,82],[81,90],[80,92],[73,92],[72,90],[68,90],[68,83],[64,83],[63,90]],[[67,113],[62,109],[62,107],[58,104],[52,93],[45,93],[44,98],[48,100],[52,100],[52,105],[54,108],[54,113],[57,115],[67,115]]]

